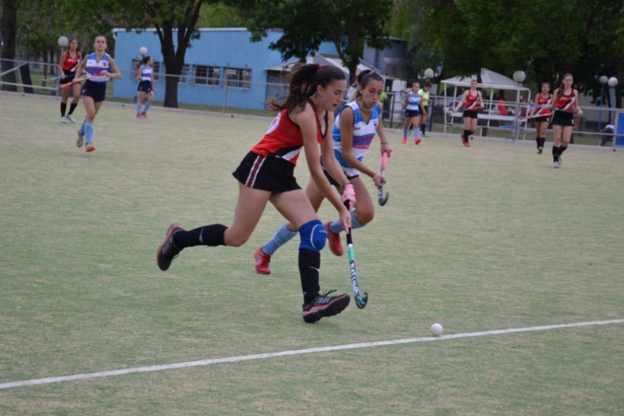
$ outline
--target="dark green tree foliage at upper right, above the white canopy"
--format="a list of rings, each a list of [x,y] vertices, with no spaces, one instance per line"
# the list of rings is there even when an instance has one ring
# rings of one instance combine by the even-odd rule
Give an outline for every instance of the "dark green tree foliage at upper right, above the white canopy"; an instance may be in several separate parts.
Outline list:
[[[523,69],[535,85],[570,72],[584,91],[597,91],[596,76],[624,69],[621,0],[414,0],[398,6],[413,20],[406,32],[418,45],[417,69],[440,62],[445,76],[482,67],[508,74]]]

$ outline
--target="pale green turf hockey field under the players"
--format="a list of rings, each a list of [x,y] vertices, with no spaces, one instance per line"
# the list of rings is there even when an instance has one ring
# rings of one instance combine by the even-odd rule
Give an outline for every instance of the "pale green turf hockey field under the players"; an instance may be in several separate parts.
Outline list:
[[[624,318],[623,152],[572,146],[554,169],[528,141],[416,147],[389,132],[390,200],[354,231],[369,304],[311,325],[298,243],[254,272],[282,222],[272,207],[243,248],[155,263],[170,223],[232,220],[231,172],[270,121],[134,116],[105,104],[87,155],[58,101],[0,94],[0,383],[425,337],[433,322],[459,334]],[[321,286],[350,291],[346,256],[323,251]],[[3,388],[0,414],[622,415],[623,340],[607,324]]]

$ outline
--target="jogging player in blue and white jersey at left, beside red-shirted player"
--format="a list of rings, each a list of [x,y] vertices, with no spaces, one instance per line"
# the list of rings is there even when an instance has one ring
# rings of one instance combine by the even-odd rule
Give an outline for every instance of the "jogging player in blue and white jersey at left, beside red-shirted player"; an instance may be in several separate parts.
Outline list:
[[[87,116],[83,125],[80,125],[78,129],[78,140],[76,140],[76,146],[80,148],[83,147],[85,138],[87,139],[87,146],[85,147],[87,153],[95,151],[93,122],[104,103],[106,83],[110,78],[115,80],[121,78],[115,60],[106,53],[106,38],[102,35],[96,36],[93,46],[95,52],[89,53],[76,70],[76,78],[80,78],[83,71],[87,73],[87,82],[80,90]]]

